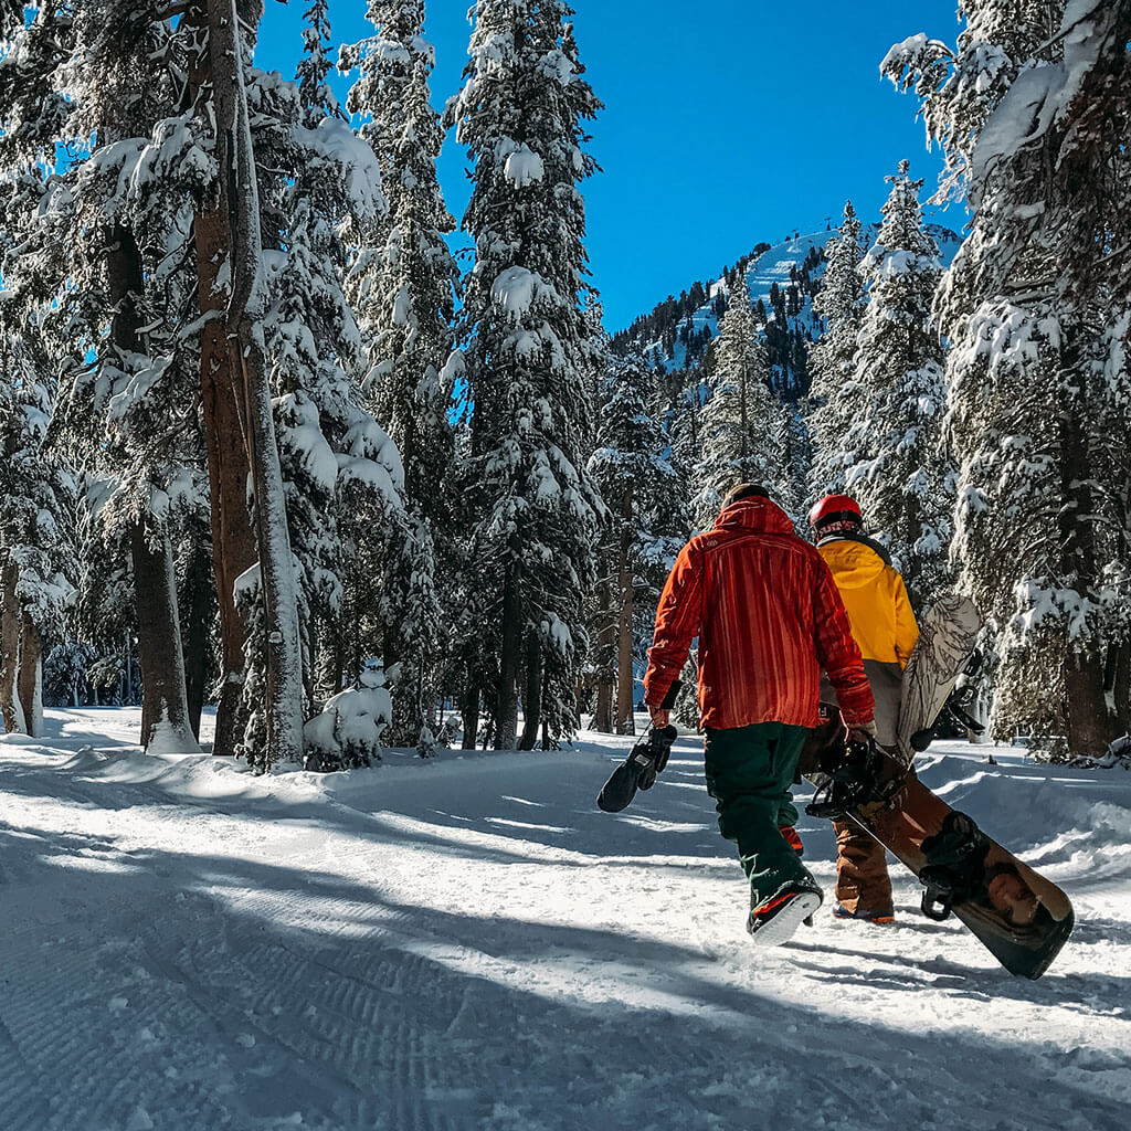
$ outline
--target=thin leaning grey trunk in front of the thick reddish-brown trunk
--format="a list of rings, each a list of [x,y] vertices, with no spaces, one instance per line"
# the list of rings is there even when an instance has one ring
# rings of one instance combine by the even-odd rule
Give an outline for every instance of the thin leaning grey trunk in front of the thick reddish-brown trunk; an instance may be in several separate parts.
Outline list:
[[[253,15],[249,26],[258,26],[262,5],[257,0],[249,2],[247,8]],[[245,412],[265,614],[267,749],[262,765],[269,768],[279,761],[302,758],[302,653],[283,473],[267,378],[259,188],[244,87],[244,44],[235,0],[208,0],[208,45],[219,202],[227,222],[232,277],[226,312],[228,371]]]

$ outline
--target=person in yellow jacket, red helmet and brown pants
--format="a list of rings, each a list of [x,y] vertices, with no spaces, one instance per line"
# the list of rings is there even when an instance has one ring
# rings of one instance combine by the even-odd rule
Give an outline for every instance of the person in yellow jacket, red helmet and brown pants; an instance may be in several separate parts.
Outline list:
[[[887,551],[864,534],[860,504],[845,494],[826,495],[809,512],[817,549],[832,573],[864,658],[875,699],[875,741],[893,749],[899,725],[904,668],[918,640],[918,624],[904,579]],[[822,689],[822,702],[832,699]],[[838,918],[890,923],[891,879],[883,846],[856,824],[835,821]]]

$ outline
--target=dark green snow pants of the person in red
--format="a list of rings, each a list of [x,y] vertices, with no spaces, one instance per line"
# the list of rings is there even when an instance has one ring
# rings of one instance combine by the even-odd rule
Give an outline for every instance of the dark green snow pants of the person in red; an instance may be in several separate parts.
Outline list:
[[[707,792],[715,798],[719,832],[739,846],[752,907],[794,884],[820,891],[778,831],[797,819],[789,787],[808,734],[804,726],[783,723],[707,731]]]

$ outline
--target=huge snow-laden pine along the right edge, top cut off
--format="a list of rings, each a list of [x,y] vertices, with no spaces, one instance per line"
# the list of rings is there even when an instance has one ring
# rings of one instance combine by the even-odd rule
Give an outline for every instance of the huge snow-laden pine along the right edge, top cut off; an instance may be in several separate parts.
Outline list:
[[[996,735],[1095,754],[1131,713],[1131,3],[962,12],[957,51],[920,35],[884,61],[973,213],[938,302],[959,578],[999,630]]]

